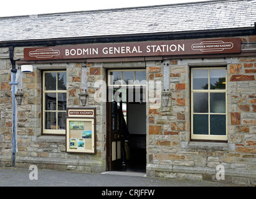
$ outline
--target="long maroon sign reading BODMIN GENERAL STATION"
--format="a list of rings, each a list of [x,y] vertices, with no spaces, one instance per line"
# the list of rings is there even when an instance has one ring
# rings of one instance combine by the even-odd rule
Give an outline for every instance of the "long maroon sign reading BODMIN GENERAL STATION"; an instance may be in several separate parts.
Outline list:
[[[163,40],[113,44],[61,45],[24,49],[24,60],[63,60],[77,58],[152,57],[239,53],[241,39]]]

